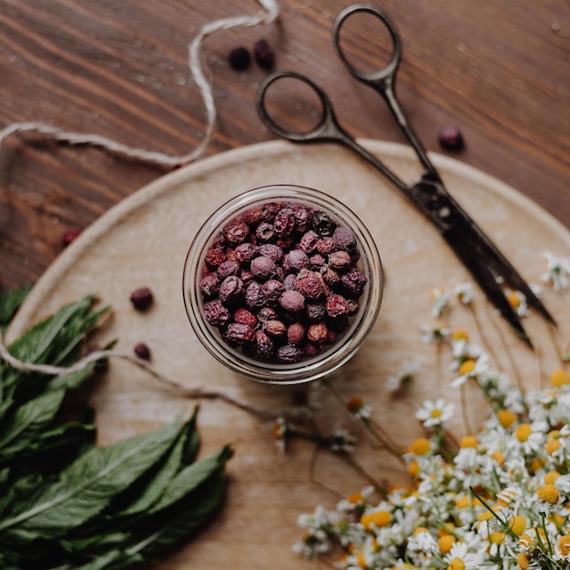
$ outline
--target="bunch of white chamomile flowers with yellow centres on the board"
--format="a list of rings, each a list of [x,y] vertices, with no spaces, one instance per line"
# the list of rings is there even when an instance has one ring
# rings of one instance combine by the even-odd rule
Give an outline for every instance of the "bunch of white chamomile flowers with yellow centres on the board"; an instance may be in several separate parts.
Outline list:
[[[555,290],[568,287],[570,263],[548,254],[542,276]],[[453,293],[473,300],[469,285],[434,291],[433,316]],[[519,295],[513,302],[521,305]],[[570,376],[567,355],[547,388],[524,392],[490,365],[465,331],[438,327],[425,341],[451,346],[452,382],[472,382],[491,417],[460,441],[446,431],[455,413],[442,398],[426,401],[416,417],[425,437],[403,459],[410,483],[380,500],[372,487],[301,514],[300,555],[321,558],[341,549],[343,570],[443,568],[465,570],[570,569]],[[409,377],[409,370],[407,376]]]

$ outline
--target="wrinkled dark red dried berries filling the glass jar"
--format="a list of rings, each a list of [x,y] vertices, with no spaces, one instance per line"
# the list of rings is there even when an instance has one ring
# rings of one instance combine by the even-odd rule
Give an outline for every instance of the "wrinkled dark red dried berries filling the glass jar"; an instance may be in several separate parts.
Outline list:
[[[367,278],[354,232],[299,202],[266,202],[225,224],[199,280],[204,316],[232,348],[295,363],[333,346]]]

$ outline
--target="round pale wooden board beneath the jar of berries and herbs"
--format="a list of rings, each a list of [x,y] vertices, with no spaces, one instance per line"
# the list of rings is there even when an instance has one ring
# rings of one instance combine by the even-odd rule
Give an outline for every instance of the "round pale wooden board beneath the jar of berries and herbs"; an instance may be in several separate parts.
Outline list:
[[[373,140],[362,143],[402,178],[412,180],[417,174],[409,148]],[[543,252],[568,255],[570,232],[513,188],[451,158],[436,155],[433,161],[453,196],[526,280],[539,282],[545,269]],[[371,337],[334,382],[345,396],[361,395],[371,402],[374,416],[405,448],[422,433],[413,419],[417,402],[440,395],[459,402],[459,391],[449,389],[453,373],[447,370],[446,356],[437,365],[433,345],[421,341],[421,326],[433,324],[429,292],[471,278],[429,222],[374,169],[343,148],[263,143],[201,160],[159,178],[107,212],[66,249],[25,301],[9,338],[67,302],[97,293],[101,303],[113,307],[100,343],[118,339],[117,350],[130,352],[138,341],[144,341],[151,348],[153,365],[188,387],[227,392],[270,410],[290,407],[292,392],[307,388],[265,386],[221,367],[191,330],[181,291],[186,252],[202,221],[236,194],[274,183],[328,192],[371,229],[386,276],[382,310]],[[144,314],[133,310],[129,301],[131,291],[141,286],[148,286],[156,298]],[[564,345],[570,338],[569,293],[545,287],[543,298],[555,314],[557,337]],[[494,346],[497,368],[528,387],[538,387],[541,371],[556,366],[544,321],[536,315],[524,321],[536,346],[533,352],[493,314],[480,291],[475,308],[482,327],[477,328],[470,311],[461,307],[453,309],[452,325],[463,326],[475,341]],[[505,346],[514,358],[507,358]],[[397,372],[403,361],[421,365],[413,397],[394,397],[384,387],[387,376]],[[99,442],[107,444],[158,427],[180,413],[188,415],[196,402],[179,397],[126,361],[112,361],[93,404]],[[310,443],[293,442],[288,453],[278,453],[271,425],[247,412],[219,401],[200,405],[202,454],[223,443],[231,443],[236,452],[229,462],[227,502],[214,524],[159,567],[313,567],[290,549],[300,535],[297,516],[316,504],[331,507],[339,494],[358,491],[365,482],[339,458],[326,453],[320,453],[311,467],[314,450]],[[482,399],[470,400],[469,408],[472,425],[486,417]],[[318,414],[323,428],[342,425],[360,433],[359,425],[346,419],[330,395],[323,396]],[[465,430],[459,419],[453,427],[456,433]],[[361,443],[357,457],[379,480],[406,482],[402,467],[386,453],[372,451],[367,443]]]

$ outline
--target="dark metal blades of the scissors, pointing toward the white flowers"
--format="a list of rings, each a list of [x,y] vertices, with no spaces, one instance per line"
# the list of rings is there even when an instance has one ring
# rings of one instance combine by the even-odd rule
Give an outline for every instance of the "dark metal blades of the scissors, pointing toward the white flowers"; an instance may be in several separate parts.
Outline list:
[[[499,282],[501,280],[514,290],[521,291],[529,306],[538,310],[547,321],[555,324],[552,315],[510,261],[453,199],[439,180],[433,180],[427,175],[409,187],[407,194],[433,221],[443,239],[447,241],[463,265],[470,270],[488,299],[521,338],[530,344],[518,315],[504,295]]]

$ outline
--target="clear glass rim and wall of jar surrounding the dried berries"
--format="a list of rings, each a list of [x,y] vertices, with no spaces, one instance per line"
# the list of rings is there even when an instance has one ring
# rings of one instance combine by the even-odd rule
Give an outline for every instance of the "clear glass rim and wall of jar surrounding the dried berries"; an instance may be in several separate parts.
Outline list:
[[[219,327],[206,320],[204,299],[199,288],[205,271],[206,253],[215,244],[222,230],[232,219],[243,212],[271,203],[300,204],[312,212],[325,212],[339,226],[349,228],[356,237],[360,256],[353,256],[356,267],[366,277],[366,284],[358,297],[358,310],[351,314],[346,330],[330,343],[324,342],[314,355],[304,356],[300,361],[281,362],[264,360],[253,351],[233,346],[222,339]],[[326,257],[326,256],[324,256]],[[281,276],[282,277],[282,276]],[[184,265],[183,295],[188,319],[198,340],[209,353],[231,371],[258,382],[294,384],[309,382],[336,371],[361,348],[380,310],[382,303],[383,272],[378,249],[368,229],[351,209],[336,198],[315,190],[291,185],[275,185],[255,188],[231,198],[211,214],[188,249]],[[302,320],[300,313],[300,320]]]

